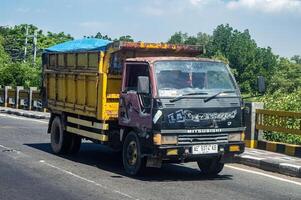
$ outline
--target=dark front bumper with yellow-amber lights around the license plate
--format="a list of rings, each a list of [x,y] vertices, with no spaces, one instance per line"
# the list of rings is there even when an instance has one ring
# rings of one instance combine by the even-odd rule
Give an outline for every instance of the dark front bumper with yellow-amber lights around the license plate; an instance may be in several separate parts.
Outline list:
[[[160,157],[164,161],[171,162],[190,162],[197,161],[201,158],[219,157],[222,162],[233,162],[233,158],[237,154],[241,154],[245,150],[243,142],[231,142],[218,144],[218,152],[210,154],[193,154],[192,147],[194,145],[161,145],[154,149],[154,156]]]

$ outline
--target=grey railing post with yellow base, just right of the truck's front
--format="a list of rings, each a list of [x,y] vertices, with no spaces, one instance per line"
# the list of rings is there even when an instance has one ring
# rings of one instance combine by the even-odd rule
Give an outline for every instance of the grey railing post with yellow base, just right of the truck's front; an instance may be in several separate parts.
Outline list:
[[[244,119],[246,125],[245,144],[246,147],[256,148],[258,140],[258,131],[255,128],[256,124],[256,109],[263,109],[262,102],[247,102],[245,103]]]

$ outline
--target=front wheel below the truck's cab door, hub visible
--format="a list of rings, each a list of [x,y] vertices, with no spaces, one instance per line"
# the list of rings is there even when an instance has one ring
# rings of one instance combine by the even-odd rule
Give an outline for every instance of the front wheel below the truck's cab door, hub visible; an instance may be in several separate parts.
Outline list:
[[[141,146],[138,136],[130,132],[123,143],[123,166],[129,175],[137,175],[145,168],[145,158],[141,156]]]

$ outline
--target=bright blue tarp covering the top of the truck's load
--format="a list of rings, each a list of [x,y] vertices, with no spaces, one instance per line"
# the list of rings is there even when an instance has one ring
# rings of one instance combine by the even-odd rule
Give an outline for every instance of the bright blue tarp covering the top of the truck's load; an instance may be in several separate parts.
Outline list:
[[[60,43],[45,49],[45,52],[80,52],[80,51],[105,51],[109,40],[84,38]]]

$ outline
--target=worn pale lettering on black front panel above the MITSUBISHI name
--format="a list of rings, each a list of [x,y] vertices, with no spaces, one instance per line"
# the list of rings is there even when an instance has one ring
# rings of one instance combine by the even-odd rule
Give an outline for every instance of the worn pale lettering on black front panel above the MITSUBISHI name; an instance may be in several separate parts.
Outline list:
[[[168,121],[169,123],[181,123],[185,121],[200,122],[204,120],[225,121],[228,119],[234,119],[236,114],[237,110],[220,113],[193,113],[190,110],[178,110],[168,115]]]

